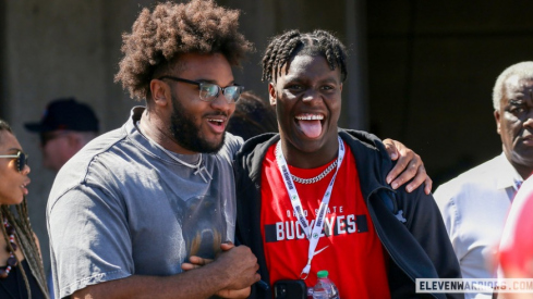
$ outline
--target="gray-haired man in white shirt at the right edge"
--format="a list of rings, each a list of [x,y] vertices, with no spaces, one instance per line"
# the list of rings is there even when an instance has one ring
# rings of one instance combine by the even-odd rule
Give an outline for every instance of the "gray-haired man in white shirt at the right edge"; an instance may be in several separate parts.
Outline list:
[[[493,89],[502,152],[435,191],[464,278],[494,278],[489,265],[518,188],[533,172],[533,62],[507,67]],[[492,294],[465,294],[490,298]]]

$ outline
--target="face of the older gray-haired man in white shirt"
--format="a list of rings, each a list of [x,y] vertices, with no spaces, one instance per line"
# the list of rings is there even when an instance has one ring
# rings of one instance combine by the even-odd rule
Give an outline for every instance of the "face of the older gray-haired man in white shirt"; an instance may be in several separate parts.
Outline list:
[[[518,75],[505,83],[500,109],[495,111],[498,134],[510,163],[524,176],[533,170],[533,80]]]

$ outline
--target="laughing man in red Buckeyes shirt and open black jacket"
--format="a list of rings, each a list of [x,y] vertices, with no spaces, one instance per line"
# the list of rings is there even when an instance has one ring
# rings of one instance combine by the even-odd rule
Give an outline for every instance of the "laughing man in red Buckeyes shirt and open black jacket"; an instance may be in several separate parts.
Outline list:
[[[238,239],[270,286],[302,278],[312,287],[328,270],[340,298],[444,298],[415,294],[414,284],[461,277],[433,197],[395,191],[381,141],[338,128],[346,58],[324,30],[287,32],[268,46],[263,79],[280,133],[237,154]],[[253,287],[252,298],[271,289]]]

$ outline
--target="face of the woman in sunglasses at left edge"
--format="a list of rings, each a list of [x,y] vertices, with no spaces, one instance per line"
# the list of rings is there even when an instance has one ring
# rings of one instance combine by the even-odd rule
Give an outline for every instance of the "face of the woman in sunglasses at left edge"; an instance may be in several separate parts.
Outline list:
[[[15,136],[0,130],[0,155],[16,154],[22,150]],[[16,158],[0,158],[0,204],[19,204],[27,195],[29,166],[17,171]]]

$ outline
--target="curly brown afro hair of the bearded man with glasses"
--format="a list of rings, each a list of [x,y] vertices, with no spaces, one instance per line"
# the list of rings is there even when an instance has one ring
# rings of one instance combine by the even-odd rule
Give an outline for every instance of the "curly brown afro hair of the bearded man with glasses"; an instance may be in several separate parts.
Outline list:
[[[253,45],[238,32],[238,10],[218,7],[213,0],[159,3],[153,12],[143,9],[132,33],[122,35],[114,82],[136,100],[148,99],[149,83],[159,67],[169,66],[182,53],[221,53],[239,66]]]

